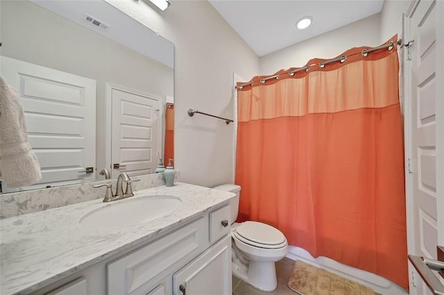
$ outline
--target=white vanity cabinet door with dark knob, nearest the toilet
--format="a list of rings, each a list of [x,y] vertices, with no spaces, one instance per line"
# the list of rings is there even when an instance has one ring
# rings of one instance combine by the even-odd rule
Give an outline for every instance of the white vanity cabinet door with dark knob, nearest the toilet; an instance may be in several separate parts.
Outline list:
[[[173,294],[232,294],[230,235],[173,275]]]

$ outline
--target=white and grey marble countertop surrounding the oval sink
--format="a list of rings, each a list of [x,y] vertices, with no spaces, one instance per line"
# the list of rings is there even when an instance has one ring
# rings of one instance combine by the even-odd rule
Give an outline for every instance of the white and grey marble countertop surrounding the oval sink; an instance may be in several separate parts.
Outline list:
[[[85,228],[80,217],[101,206],[101,199],[0,220],[0,293],[27,294],[126,249],[142,246],[213,208],[234,193],[176,183],[135,192],[182,199],[176,211],[155,220],[114,229]]]

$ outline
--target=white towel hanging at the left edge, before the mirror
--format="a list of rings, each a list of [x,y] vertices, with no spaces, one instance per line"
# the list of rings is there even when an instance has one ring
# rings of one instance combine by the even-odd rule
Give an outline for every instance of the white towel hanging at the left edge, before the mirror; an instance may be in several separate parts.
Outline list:
[[[0,179],[8,188],[42,179],[40,165],[28,143],[22,103],[0,77]]]

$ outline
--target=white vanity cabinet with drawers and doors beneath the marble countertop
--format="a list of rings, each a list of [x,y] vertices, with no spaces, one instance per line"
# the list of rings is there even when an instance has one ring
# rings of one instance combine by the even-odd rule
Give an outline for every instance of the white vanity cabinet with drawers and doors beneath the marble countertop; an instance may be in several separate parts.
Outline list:
[[[35,294],[231,295],[228,220],[230,206],[216,208]]]

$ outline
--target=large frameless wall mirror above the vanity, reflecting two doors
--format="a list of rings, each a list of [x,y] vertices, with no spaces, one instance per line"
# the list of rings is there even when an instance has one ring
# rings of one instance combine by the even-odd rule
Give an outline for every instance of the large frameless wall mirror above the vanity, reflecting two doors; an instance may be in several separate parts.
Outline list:
[[[105,1],[2,0],[0,13],[1,76],[42,171],[2,193],[101,180],[103,168],[153,173],[173,158],[171,42]]]

